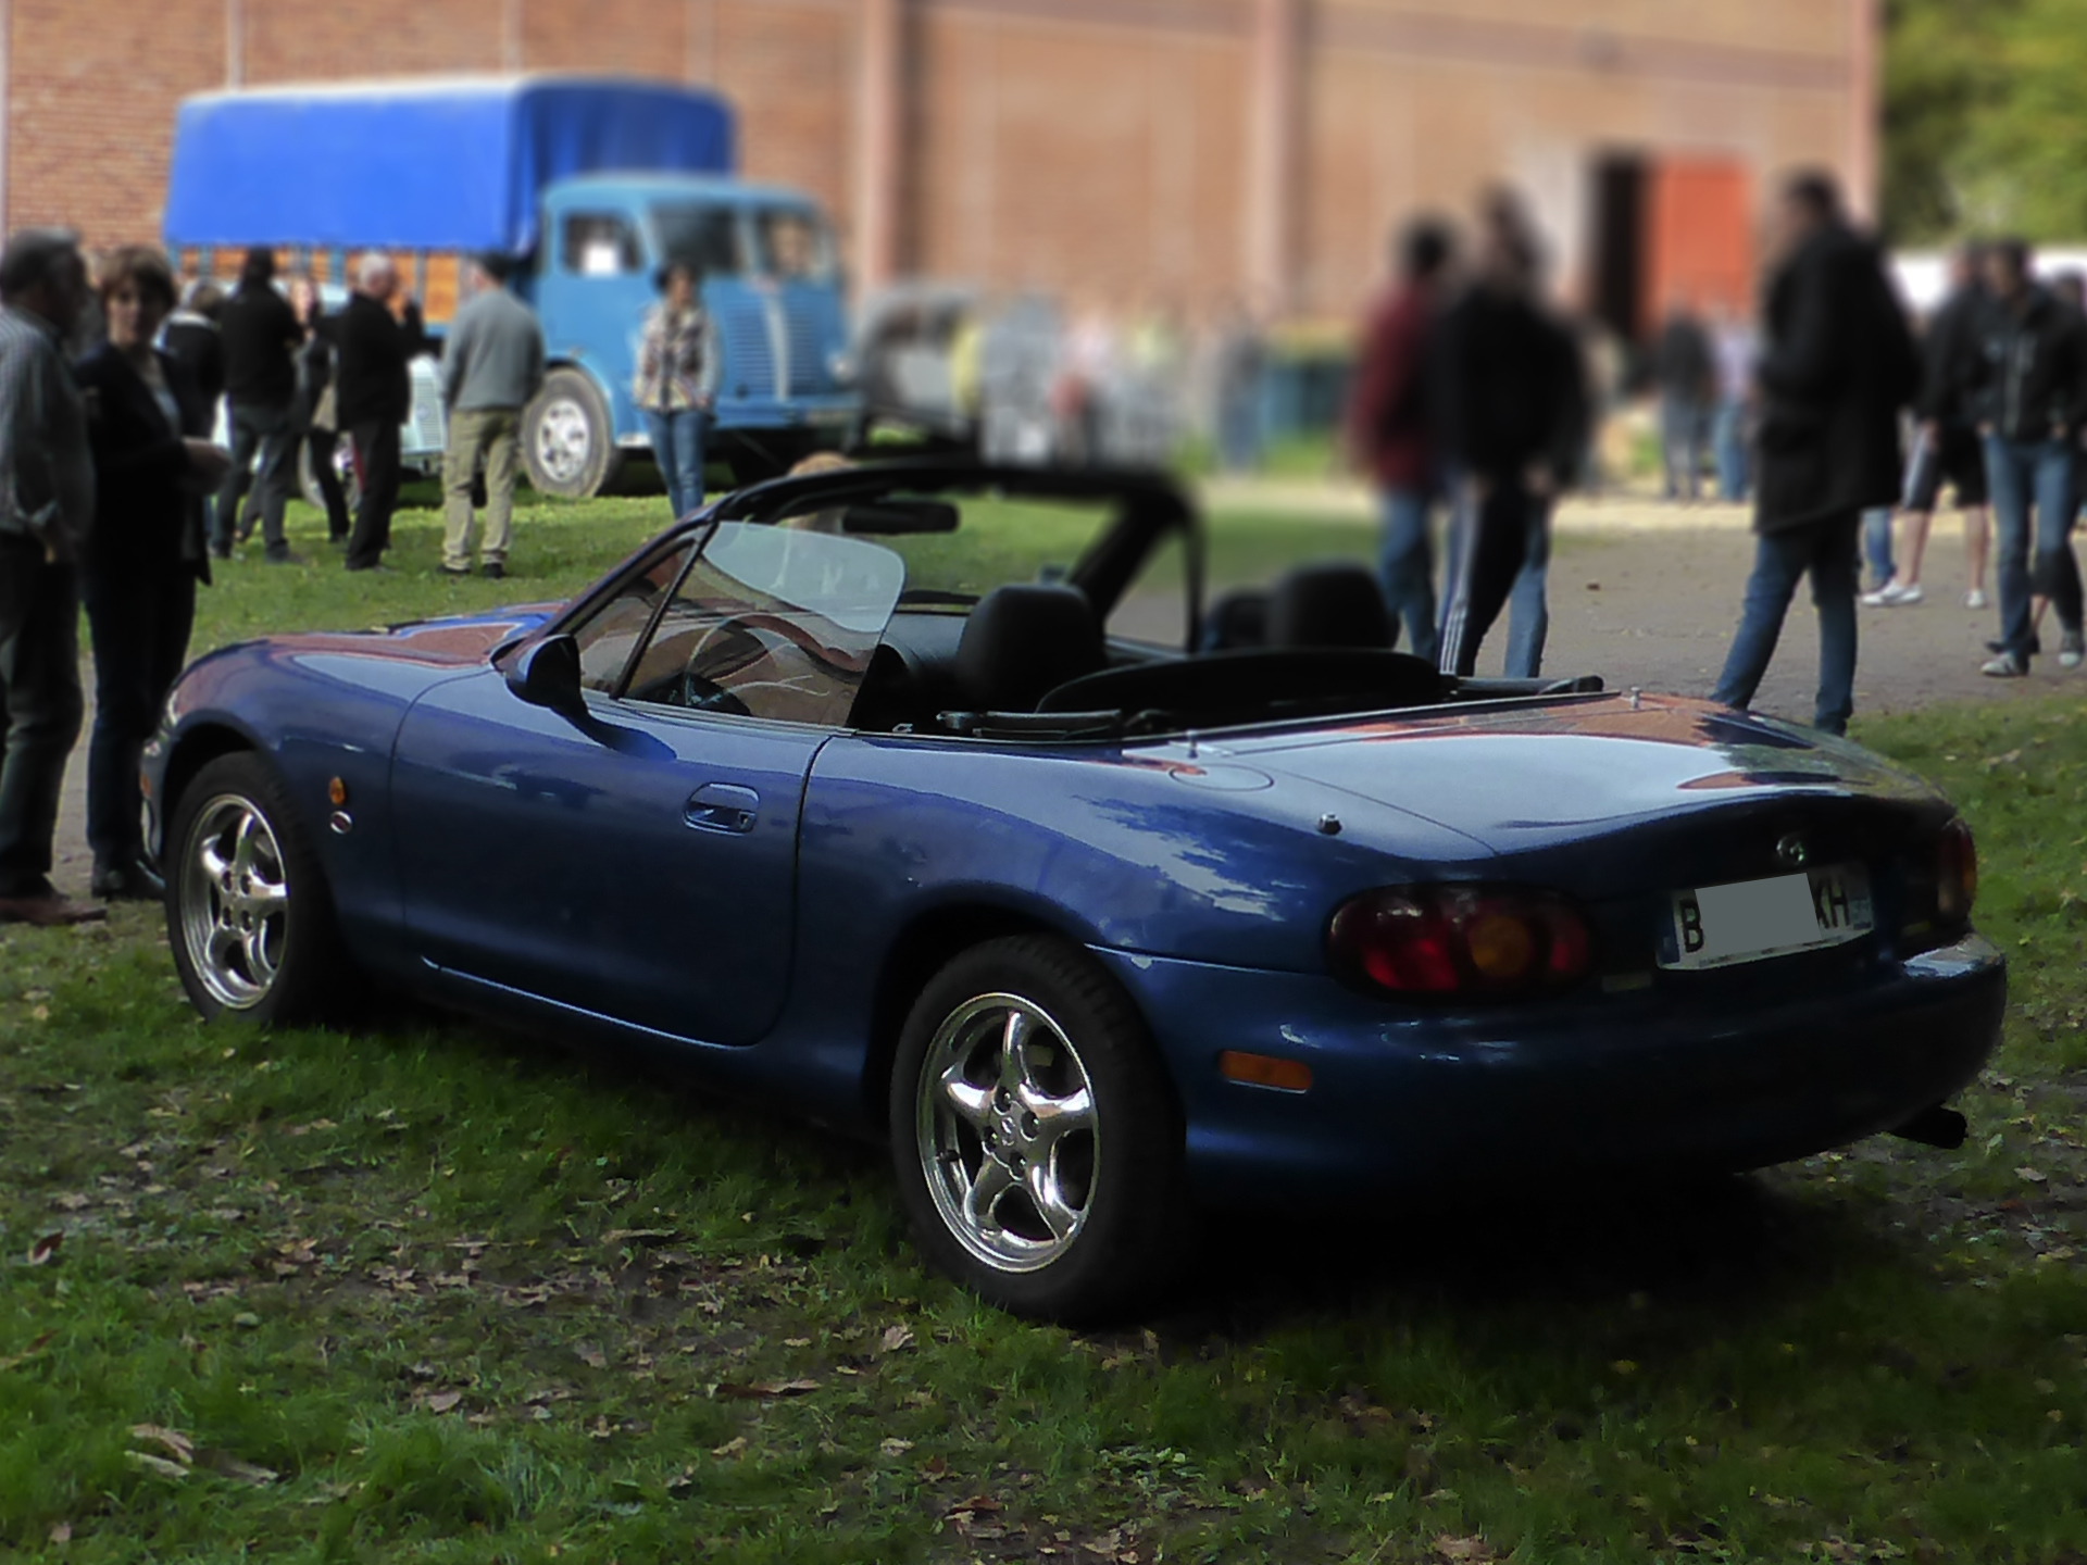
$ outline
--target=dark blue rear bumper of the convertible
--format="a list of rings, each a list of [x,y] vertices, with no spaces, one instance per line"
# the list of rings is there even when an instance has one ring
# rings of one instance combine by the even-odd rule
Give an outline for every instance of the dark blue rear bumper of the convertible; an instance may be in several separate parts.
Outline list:
[[[1137,997],[1213,1202],[1459,1179],[1755,1169],[1903,1125],[1999,1041],[2006,958],[1972,935],[1830,995],[1690,1008],[1624,995],[1415,1012],[1334,979],[1096,952]],[[1221,1050],[1302,1060],[1304,1093],[1227,1081]]]

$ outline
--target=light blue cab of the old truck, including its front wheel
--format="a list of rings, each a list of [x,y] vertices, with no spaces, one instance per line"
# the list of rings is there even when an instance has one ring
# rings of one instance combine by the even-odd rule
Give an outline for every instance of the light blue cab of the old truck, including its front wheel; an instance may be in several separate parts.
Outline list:
[[[630,382],[657,273],[676,261],[701,275],[718,328],[712,442],[741,478],[854,436],[839,263],[810,196],[703,175],[580,175],[545,190],[538,234],[522,282],[551,363],[524,430],[536,488],[593,495],[622,453],[647,444]]]

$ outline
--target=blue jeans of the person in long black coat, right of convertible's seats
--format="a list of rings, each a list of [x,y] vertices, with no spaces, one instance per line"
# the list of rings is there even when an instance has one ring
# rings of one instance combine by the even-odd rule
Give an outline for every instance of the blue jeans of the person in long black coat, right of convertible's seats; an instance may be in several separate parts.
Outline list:
[[[1855,712],[1855,513],[1764,532],[1747,578],[1747,607],[1724,659],[1713,701],[1745,707],[1776,655],[1782,616],[1791,609],[1797,578],[1812,576],[1812,603],[1820,616],[1820,689],[1812,724],[1845,735]]]

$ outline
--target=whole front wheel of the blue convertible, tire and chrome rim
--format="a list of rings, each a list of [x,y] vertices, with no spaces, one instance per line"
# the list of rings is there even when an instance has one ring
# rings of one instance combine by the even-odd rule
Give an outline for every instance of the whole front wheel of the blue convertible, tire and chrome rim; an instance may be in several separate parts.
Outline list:
[[[340,1020],[353,962],[282,782],[253,753],[190,778],[167,833],[167,943],[205,1020]]]

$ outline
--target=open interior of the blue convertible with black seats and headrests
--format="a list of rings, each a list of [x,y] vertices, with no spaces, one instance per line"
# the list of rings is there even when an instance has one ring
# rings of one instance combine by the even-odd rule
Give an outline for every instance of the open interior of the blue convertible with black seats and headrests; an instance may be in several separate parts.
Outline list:
[[[1071,495],[1100,503],[1102,526],[1073,565],[981,593],[935,586],[933,570],[916,584],[908,561],[906,591],[874,636],[776,601],[735,603],[707,624],[678,618],[676,601],[653,616],[622,695],[799,722],[845,712],[868,732],[1075,739],[1601,691],[1597,678],[1457,680],[1394,651],[1375,576],[1357,561],[1294,565],[1202,607],[1200,524],[1156,478],[1112,488],[1094,474],[970,469],[950,482],[860,467],[741,490],[718,515],[899,547],[958,530],[952,490]],[[1188,597],[1188,634],[1165,645],[1117,632],[1110,611],[1169,543],[1183,561],[1175,591]]]

